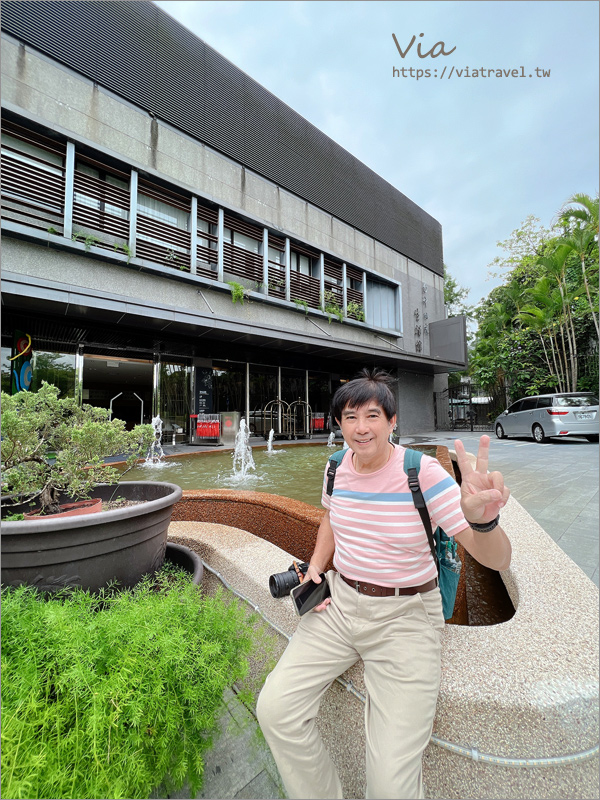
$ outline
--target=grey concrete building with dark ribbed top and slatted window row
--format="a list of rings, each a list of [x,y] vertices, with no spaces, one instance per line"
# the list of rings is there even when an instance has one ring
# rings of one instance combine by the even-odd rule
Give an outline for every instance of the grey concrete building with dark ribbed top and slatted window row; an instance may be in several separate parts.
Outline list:
[[[151,2],[3,4],[2,170],[4,389],[312,431],[379,365],[414,433],[466,363],[439,223]]]

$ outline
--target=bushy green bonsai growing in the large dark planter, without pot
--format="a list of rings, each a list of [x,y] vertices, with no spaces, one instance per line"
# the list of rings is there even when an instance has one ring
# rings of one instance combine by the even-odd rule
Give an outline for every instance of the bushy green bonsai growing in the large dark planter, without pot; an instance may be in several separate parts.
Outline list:
[[[151,425],[127,431],[108,409],[58,395],[46,382],[36,393],[2,392],[2,493],[14,505],[39,503],[41,514],[60,510],[61,492],[81,500],[97,483],[116,483],[124,473],[103,460],[123,453],[130,469],[154,440]]]

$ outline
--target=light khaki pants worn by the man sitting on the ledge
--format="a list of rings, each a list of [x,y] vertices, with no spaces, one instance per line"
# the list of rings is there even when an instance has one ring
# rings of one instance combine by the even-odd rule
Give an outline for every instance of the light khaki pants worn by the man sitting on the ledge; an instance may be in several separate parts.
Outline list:
[[[342,797],[315,718],[332,681],[362,659],[367,798],[422,798],[421,757],[440,683],[439,589],[366,597],[336,572],[327,579],[331,604],[301,618],[258,699],[258,720],[286,791],[307,800]]]

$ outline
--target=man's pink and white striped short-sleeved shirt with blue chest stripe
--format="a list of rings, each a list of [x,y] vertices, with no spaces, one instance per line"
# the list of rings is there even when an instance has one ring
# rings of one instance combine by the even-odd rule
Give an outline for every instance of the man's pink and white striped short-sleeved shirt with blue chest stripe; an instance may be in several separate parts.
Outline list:
[[[394,446],[388,463],[359,474],[349,450],[338,466],[333,494],[327,494],[327,469],[321,503],[329,510],[335,539],[333,564],[353,580],[379,586],[419,586],[437,576],[423,523],[402,467],[405,449]],[[469,527],[456,481],[435,458],[423,455],[419,483],[432,527],[448,536]]]

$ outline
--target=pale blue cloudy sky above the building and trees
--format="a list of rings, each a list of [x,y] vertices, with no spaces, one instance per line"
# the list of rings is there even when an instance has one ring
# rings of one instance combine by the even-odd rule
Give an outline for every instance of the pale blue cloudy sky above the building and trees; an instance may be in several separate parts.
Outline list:
[[[435,217],[471,304],[527,216],[598,192],[595,0],[156,5]]]

